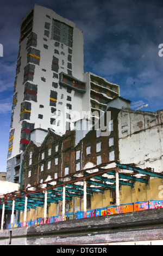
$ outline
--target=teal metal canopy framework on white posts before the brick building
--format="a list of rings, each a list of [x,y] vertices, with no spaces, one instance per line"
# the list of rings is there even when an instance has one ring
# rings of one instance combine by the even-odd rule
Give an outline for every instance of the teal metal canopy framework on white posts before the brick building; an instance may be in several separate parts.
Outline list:
[[[163,178],[162,173],[156,173],[152,169],[141,169],[134,164],[121,164],[109,162],[92,168],[80,170],[76,173],[66,175],[63,178],[45,181],[33,187],[4,194],[0,199],[0,209],[5,203],[5,209],[12,209],[12,201],[15,200],[15,210],[24,211],[25,197],[27,210],[43,207],[45,204],[45,191],[47,191],[47,204],[62,201],[62,188],[65,186],[65,200],[72,197],[82,198],[84,194],[83,183],[86,180],[86,193],[93,195],[93,192],[104,193],[105,190],[116,188],[116,172],[119,174],[119,185],[134,186],[134,182],[148,183],[149,178]]]

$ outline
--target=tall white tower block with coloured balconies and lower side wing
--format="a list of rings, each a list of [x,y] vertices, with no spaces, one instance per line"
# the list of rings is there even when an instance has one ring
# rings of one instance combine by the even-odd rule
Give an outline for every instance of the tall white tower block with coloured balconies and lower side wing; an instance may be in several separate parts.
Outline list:
[[[30,131],[64,134],[91,111],[102,113],[119,86],[83,70],[83,31],[37,4],[21,23],[9,135],[7,180],[21,180]],[[84,74],[83,74],[84,73]],[[18,161],[20,162],[18,163]]]

